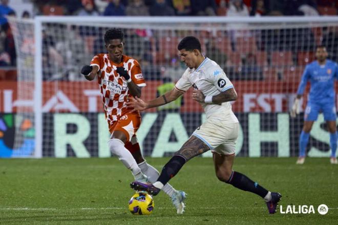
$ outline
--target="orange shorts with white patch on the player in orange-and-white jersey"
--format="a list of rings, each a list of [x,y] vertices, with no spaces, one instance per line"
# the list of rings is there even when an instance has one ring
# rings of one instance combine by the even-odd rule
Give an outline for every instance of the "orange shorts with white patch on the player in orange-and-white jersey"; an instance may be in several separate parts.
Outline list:
[[[113,133],[116,130],[122,131],[125,134],[126,140],[131,142],[140,124],[141,116],[139,113],[125,114],[119,120],[109,125],[109,132]]]

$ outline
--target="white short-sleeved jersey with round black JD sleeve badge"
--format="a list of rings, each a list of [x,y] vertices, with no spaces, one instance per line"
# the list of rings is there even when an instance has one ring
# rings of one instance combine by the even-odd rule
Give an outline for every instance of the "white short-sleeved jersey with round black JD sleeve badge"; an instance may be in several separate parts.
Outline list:
[[[195,68],[186,69],[177,81],[175,88],[178,91],[186,92],[191,86],[199,89],[204,96],[218,95],[234,87],[222,68],[209,58],[205,58],[196,70]],[[219,117],[228,123],[238,123],[230,102],[223,102],[222,104],[201,103],[201,105],[204,108],[206,118]]]

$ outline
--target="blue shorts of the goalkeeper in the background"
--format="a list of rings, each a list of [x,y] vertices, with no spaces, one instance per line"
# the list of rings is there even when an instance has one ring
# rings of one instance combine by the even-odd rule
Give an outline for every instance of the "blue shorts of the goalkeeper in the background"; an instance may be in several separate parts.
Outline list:
[[[335,103],[333,102],[307,102],[304,120],[305,121],[316,121],[319,113],[324,114],[325,121],[335,121],[336,120],[336,108]]]

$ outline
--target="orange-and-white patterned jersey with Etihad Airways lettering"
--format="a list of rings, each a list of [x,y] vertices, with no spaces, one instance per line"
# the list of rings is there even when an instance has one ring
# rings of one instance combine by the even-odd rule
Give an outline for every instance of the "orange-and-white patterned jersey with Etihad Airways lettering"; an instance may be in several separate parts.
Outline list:
[[[126,102],[128,97],[132,97],[125,79],[116,72],[116,68],[123,66],[135,84],[145,86],[140,65],[138,61],[126,55],[122,56],[122,62],[114,63],[109,59],[109,54],[94,56],[90,65],[99,67],[97,80],[100,85],[105,118],[111,125],[130,111],[126,107]]]

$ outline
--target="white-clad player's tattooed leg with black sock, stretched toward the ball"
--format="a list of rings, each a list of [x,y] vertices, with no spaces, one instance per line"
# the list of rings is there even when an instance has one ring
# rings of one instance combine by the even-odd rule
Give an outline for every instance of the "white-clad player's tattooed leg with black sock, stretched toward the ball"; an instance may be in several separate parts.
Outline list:
[[[195,136],[190,137],[181,147],[179,151],[175,153],[172,159],[165,164],[161,171],[161,175],[157,181],[165,185],[172,177],[174,177],[182,166],[196,155],[202,154],[210,148],[200,139]]]

